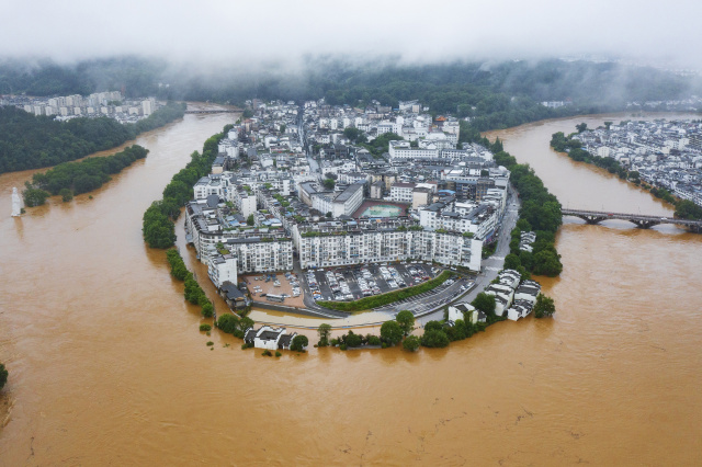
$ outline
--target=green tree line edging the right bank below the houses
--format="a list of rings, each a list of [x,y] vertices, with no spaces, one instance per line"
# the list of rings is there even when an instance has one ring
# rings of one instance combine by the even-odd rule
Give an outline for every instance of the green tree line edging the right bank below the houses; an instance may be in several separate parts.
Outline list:
[[[605,122],[608,124],[612,122]],[[639,179],[639,174],[635,170],[629,170],[623,167],[616,159],[610,157],[595,156],[582,149],[582,143],[578,139],[574,139],[573,136],[582,133],[587,129],[587,124],[581,123],[576,125],[576,133],[565,135],[563,132],[554,133],[551,136],[551,147],[563,152],[576,162],[589,163],[592,166],[607,169],[608,172],[616,174],[620,179],[639,186],[667,203],[675,206],[675,216],[679,219],[688,220],[702,220],[702,206],[694,204],[689,200],[681,200],[670,193],[668,190],[660,186],[653,186]]]

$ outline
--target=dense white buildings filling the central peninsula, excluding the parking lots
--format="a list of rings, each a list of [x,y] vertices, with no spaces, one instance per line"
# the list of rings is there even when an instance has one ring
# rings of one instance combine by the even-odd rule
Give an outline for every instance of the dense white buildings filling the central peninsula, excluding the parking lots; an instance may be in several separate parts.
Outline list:
[[[434,119],[415,101],[248,105],[253,116],[219,141],[186,207],[188,241],[218,288],[294,264],[423,260],[479,271],[510,174],[486,148],[458,145],[457,119]],[[364,141],[388,132],[404,139],[373,156]]]

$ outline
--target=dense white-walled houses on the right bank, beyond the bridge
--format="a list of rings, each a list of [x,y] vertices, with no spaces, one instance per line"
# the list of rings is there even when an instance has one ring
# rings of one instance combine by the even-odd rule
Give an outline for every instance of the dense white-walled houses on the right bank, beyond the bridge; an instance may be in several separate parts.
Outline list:
[[[574,138],[590,153],[637,171],[642,181],[702,206],[702,121],[621,122]]]

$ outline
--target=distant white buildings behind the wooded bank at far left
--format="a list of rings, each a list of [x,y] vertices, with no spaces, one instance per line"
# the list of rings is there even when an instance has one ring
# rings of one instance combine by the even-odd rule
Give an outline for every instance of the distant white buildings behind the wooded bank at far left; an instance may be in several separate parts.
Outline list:
[[[34,115],[55,115],[57,119],[107,116],[121,123],[134,123],[151,115],[159,104],[154,98],[124,100],[120,91],[107,91],[48,99],[11,95],[2,99],[2,105],[14,105]]]

